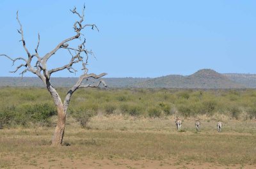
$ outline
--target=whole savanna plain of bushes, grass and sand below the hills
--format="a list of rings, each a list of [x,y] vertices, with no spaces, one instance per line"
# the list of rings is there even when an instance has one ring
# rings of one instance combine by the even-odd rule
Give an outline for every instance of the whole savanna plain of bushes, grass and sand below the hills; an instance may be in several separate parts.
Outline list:
[[[45,89],[3,87],[0,96],[0,168],[256,168],[255,90],[77,91],[57,148]]]

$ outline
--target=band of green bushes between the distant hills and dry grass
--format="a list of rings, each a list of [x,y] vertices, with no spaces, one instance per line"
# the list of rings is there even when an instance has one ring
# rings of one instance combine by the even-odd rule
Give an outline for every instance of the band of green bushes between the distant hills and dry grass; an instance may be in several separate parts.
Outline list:
[[[58,91],[64,97],[67,89]],[[49,126],[51,117],[56,115],[52,98],[44,88],[3,87],[0,97],[0,128]],[[97,114],[152,118],[223,114],[234,119],[254,119],[256,90],[82,89],[74,94],[68,114],[82,126]]]

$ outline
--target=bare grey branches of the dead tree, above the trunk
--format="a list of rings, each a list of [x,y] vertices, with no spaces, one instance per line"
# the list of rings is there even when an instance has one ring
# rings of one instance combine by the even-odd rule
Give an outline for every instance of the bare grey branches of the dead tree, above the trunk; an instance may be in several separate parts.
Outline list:
[[[44,84],[47,85],[47,87],[49,87],[49,88],[52,87],[51,82],[50,82],[52,73],[55,73],[55,72],[61,71],[61,70],[68,70],[70,73],[76,73],[77,70],[73,66],[74,66],[74,64],[81,63],[81,66],[82,66],[81,70],[83,71],[83,75],[81,75],[79,77],[76,84],[70,89],[70,91],[68,91],[67,96],[64,101],[65,107],[68,107],[70,98],[71,98],[72,94],[77,89],[85,88],[85,87],[99,87],[100,84],[102,84],[104,87],[107,86],[103,80],[99,80],[99,82],[93,83],[93,84],[85,84],[85,85],[83,84],[82,85],[82,82],[84,79],[88,79],[88,78],[98,79],[107,74],[106,73],[101,73],[100,75],[95,75],[94,73],[88,74],[88,68],[86,68],[86,66],[88,64],[88,57],[89,57],[89,55],[93,55],[93,52],[92,52],[92,50],[86,49],[86,47],[85,47],[86,40],[85,39],[79,45],[77,45],[77,47],[70,47],[70,45],[68,44],[68,42],[70,42],[70,41],[73,41],[76,39],[81,39],[81,36],[83,36],[81,31],[85,27],[92,27],[92,29],[95,28],[95,29],[97,29],[97,31],[99,31],[98,27],[95,24],[83,24],[84,9],[85,9],[85,6],[83,7],[82,13],[79,13],[77,11],[76,7],[74,7],[73,10],[70,10],[72,13],[74,13],[75,15],[77,15],[79,17],[79,20],[74,22],[74,25],[73,25],[73,28],[74,28],[74,31],[76,34],[74,36],[71,36],[70,38],[67,38],[67,39],[61,41],[49,53],[45,54],[44,57],[40,57],[40,55],[38,54],[38,47],[40,45],[40,34],[39,33],[38,33],[38,42],[37,42],[37,45],[35,48],[35,54],[31,54],[29,52],[28,48],[26,47],[26,42],[24,40],[24,32],[23,32],[22,24],[20,23],[20,20],[19,20],[19,12],[17,11],[17,21],[20,26],[20,29],[18,29],[18,33],[21,36],[20,41],[22,41],[22,45],[23,45],[24,50],[26,51],[26,54],[28,55],[28,59],[24,59],[24,57],[17,57],[15,59],[12,59],[12,57],[9,57],[8,55],[1,54],[4,57],[7,57],[8,59],[10,59],[13,62],[13,64],[15,63],[15,61],[18,61],[18,60],[24,61],[24,63],[17,66],[17,68],[14,71],[11,71],[12,73],[16,73],[18,70],[20,70],[20,68],[24,67],[25,69],[23,71],[21,71],[20,75],[23,76],[24,73],[26,73],[27,71],[30,71],[30,72],[38,75],[38,77],[41,78],[43,80]],[[49,58],[52,57],[52,55],[54,55],[60,49],[67,50],[69,52],[69,54],[71,56],[70,61],[67,64],[60,66],[58,68],[53,68],[51,70],[47,70],[47,61],[49,60]],[[31,61],[34,57],[37,60],[36,60],[35,66],[32,67]],[[66,111],[67,111],[67,109],[66,109]]]

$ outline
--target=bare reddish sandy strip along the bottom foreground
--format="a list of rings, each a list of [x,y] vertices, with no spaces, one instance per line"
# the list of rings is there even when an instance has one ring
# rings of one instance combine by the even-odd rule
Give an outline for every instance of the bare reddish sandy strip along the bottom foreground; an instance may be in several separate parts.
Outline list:
[[[6,156],[2,158],[5,161],[12,161],[10,166],[2,166],[2,168],[86,168],[86,169],[139,169],[139,168],[149,168],[149,169],[172,169],[172,168],[256,168],[256,165],[220,165],[217,163],[196,163],[189,162],[185,163],[179,160],[165,159],[161,161],[157,160],[131,160],[131,159],[70,159],[70,158],[42,158],[35,157],[29,159],[17,159],[15,156]]]

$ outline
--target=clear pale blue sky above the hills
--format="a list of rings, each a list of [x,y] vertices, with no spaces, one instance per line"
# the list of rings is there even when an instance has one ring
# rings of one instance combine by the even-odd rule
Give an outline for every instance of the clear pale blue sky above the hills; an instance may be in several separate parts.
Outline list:
[[[100,32],[84,30],[90,72],[108,77],[189,75],[202,68],[220,73],[256,73],[256,1],[0,1],[0,54],[26,55],[17,33],[34,51],[40,33],[40,55],[72,36],[77,19],[69,9],[86,5],[86,22]],[[69,61],[67,52],[52,57],[49,67]],[[0,57],[0,76],[13,75],[12,62]],[[18,64],[16,64],[18,65]],[[55,77],[77,77],[62,71]],[[33,76],[27,74],[26,76]]]

